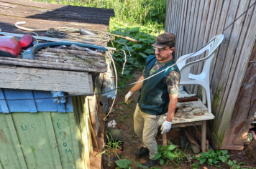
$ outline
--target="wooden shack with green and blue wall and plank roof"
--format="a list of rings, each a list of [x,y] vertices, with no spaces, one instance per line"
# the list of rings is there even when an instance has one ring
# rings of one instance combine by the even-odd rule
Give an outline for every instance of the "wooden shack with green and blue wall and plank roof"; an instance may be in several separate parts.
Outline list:
[[[0,15],[1,32],[27,34],[17,21],[106,31],[114,10],[3,0]],[[0,56],[0,169],[91,168],[96,97],[52,97],[93,94],[96,76],[107,71],[106,54],[75,48],[40,49],[34,60]]]

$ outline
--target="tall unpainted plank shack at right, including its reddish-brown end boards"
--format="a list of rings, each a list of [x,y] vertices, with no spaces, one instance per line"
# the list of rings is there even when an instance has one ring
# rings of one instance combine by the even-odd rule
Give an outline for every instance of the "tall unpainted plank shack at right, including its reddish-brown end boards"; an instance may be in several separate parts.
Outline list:
[[[165,32],[176,35],[176,58],[196,52],[220,34],[255,1],[168,0]],[[214,148],[242,150],[256,110],[256,6],[230,26],[211,64],[211,111],[209,125]],[[199,74],[203,64],[191,72]],[[198,94],[198,86],[189,86]],[[211,140],[211,139],[210,139]]]

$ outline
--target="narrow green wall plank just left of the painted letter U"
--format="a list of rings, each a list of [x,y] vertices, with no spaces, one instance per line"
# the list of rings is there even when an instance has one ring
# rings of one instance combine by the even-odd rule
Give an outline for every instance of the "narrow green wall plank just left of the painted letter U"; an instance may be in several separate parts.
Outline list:
[[[24,159],[22,148],[20,147],[19,138],[17,136],[17,132],[16,132],[16,129],[14,127],[14,122],[12,120],[12,114],[6,114],[5,117],[6,117],[6,122],[8,124],[8,127],[9,127],[9,131],[11,132],[11,135],[12,135],[12,140],[14,142],[15,149],[17,151],[17,155],[18,155],[18,158],[19,158],[19,163],[20,163],[22,169],[27,169],[27,164],[26,164],[25,159]]]

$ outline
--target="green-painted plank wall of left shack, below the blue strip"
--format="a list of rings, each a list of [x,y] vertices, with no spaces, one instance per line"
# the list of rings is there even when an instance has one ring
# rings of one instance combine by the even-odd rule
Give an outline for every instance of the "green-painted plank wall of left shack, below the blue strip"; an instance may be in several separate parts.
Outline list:
[[[0,168],[90,168],[88,98],[73,97],[72,104],[66,113],[0,113]]]

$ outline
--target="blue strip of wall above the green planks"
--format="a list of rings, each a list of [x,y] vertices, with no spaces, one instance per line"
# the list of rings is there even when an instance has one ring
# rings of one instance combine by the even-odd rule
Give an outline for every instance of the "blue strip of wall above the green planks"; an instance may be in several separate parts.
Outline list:
[[[51,97],[50,91],[0,89],[0,112],[73,112],[70,97],[62,105]]]

